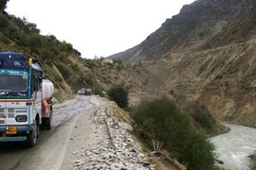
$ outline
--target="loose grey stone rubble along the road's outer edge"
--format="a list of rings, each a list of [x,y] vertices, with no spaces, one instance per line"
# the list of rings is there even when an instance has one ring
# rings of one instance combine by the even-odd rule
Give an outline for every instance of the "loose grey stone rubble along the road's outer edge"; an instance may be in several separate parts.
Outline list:
[[[93,116],[96,128],[107,128],[109,140],[102,141],[97,147],[82,148],[73,153],[82,156],[81,160],[73,161],[73,169],[155,169],[127,131],[131,126],[119,123],[107,109],[97,110]]]

